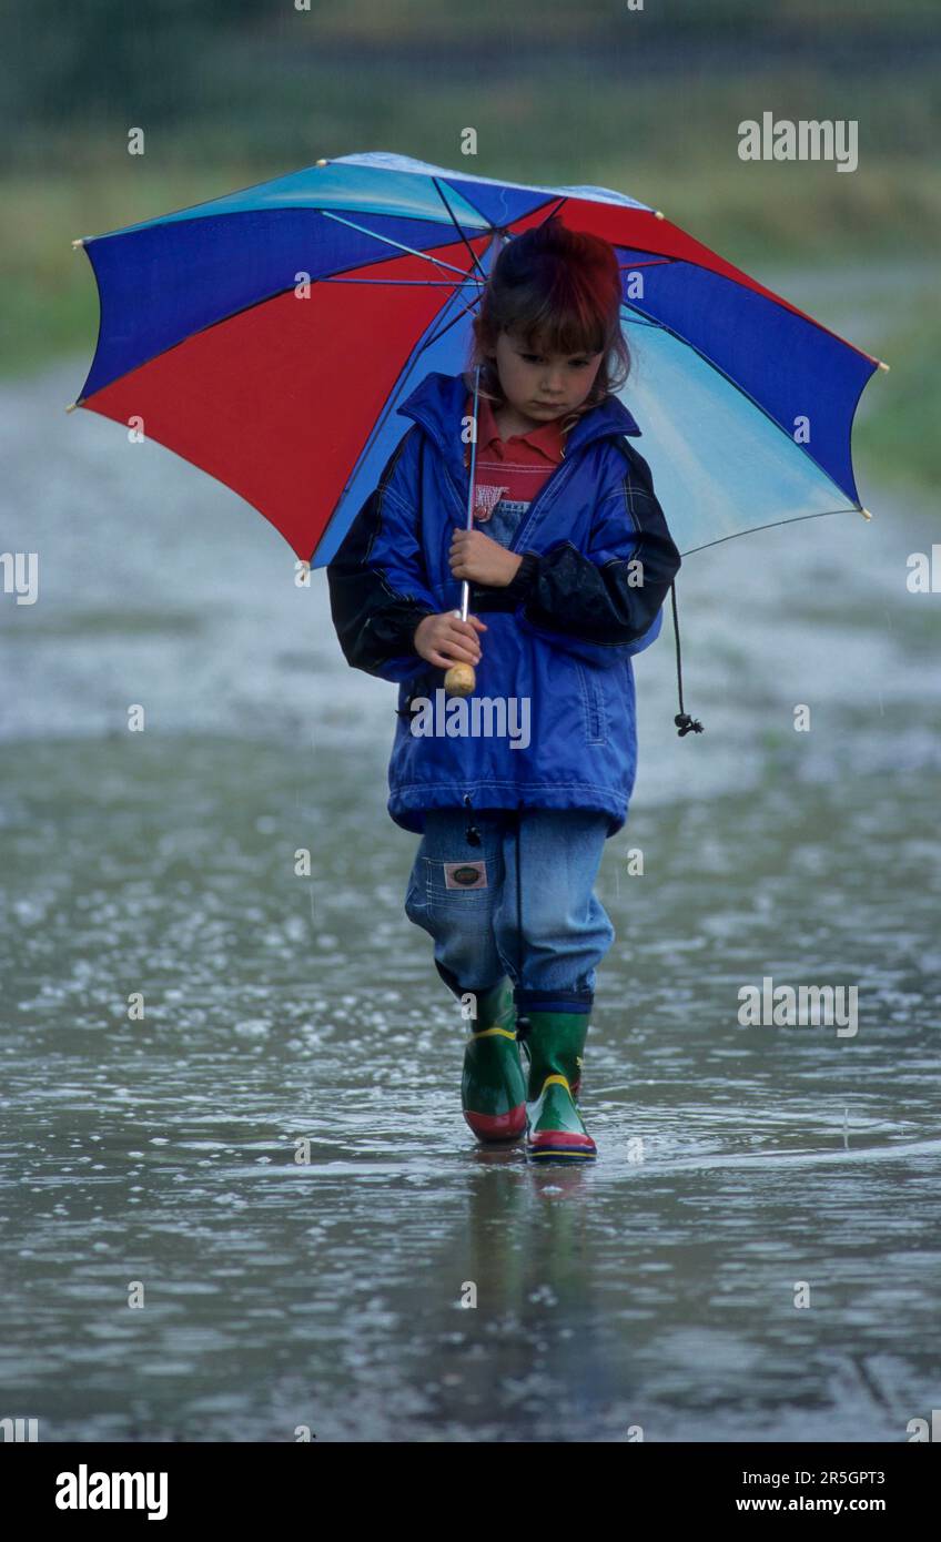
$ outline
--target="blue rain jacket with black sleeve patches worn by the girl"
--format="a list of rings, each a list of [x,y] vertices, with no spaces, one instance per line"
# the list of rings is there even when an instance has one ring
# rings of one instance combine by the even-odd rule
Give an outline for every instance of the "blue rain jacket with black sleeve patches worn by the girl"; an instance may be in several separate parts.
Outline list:
[[[447,554],[467,524],[466,398],[463,375],[432,373],[403,402],[412,427],[327,567],[347,663],[400,686],[389,814],[421,833],[429,808],[589,808],[614,836],[637,771],[631,657],[657,638],[680,566],[625,438],[640,429],[608,396],[569,430],[509,547],[512,583],[470,584],[487,625],[477,686],[446,699],[412,641],[424,615],[461,604]]]

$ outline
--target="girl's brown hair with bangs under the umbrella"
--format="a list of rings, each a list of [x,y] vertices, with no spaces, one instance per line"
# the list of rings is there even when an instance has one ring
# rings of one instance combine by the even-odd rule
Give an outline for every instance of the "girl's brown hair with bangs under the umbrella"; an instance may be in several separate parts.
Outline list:
[[[501,332],[515,332],[534,353],[603,353],[592,389],[562,427],[572,424],[605,396],[620,390],[631,370],[631,352],[620,330],[620,268],[614,247],[600,236],[569,230],[551,216],[514,236],[484,284],[474,318],[467,370],[480,364],[480,392],[503,402],[492,359]],[[470,387],[472,389],[472,387]]]

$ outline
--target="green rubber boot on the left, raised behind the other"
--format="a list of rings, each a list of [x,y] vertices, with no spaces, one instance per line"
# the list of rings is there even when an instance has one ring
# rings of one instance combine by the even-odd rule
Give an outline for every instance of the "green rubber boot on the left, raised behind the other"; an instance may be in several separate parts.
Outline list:
[[[461,1106],[480,1141],[517,1141],[526,1129],[526,1078],[517,1047],[509,979],[475,990],[477,1018],[464,1049]]]

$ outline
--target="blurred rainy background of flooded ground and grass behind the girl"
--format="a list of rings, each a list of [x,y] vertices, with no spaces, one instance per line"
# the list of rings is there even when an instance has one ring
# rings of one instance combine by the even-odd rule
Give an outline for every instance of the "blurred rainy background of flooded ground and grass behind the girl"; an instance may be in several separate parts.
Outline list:
[[[938,1406],[938,595],[906,584],[938,540],[938,23],[3,6],[0,552],[39,552],[40,589],[0,592],[0,1416],[43,1440],[898,1442]],[[858,122],[858,168],[742,162],[765,111]],[[855,424],[872,523],[683,563],[705,734],[673,726],[669,615],[637,660],[592,1172],[529,1172],[461,1119],[463,1025],[384,808],[395,692],[347,669],[324,574],[295,588],[231,492],[63,410],[97,332],[73,239],[369,150],[629,193],[892,365]],[[856,985],[858,1033],[740,1029],[767,975]]]

